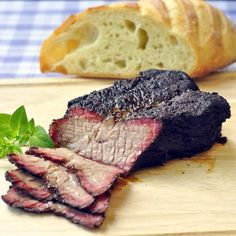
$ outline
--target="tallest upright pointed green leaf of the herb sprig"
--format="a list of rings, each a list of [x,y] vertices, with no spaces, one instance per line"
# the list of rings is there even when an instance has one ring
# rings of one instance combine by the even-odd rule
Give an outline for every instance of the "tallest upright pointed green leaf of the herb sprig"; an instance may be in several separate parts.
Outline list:
[[[10,126],[17,136],[25,134],[29,129],[25,107],[20,106],[11,116]]]

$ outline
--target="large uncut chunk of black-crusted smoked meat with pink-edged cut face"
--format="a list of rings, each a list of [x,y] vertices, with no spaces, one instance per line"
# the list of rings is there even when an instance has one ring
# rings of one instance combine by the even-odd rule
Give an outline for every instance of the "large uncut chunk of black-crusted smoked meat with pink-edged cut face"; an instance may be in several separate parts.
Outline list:
[[[221,138],[230,106],[182,72],[150,70],[69,102],[50,135],[89,159],[132,169],[191,156]]]

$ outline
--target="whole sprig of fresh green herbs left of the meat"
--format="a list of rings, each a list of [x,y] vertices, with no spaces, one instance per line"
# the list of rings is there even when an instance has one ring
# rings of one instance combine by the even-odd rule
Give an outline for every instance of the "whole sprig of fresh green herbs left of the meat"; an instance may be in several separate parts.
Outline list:
[[[0,113],[0,157],[22,153],[23,146],[53,147],[53,141],[34,119],[28,121],[24,106],[12,115]]]

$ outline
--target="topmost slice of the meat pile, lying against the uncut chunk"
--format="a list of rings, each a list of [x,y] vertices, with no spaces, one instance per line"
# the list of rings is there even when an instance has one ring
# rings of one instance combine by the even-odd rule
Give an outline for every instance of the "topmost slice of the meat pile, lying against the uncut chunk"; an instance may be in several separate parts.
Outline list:
[[[30,148],[28,153],[42,156],[76,171],[81,185],[93,196],[106,192],[122,172],[119,168],[86,159],[66,148]]]

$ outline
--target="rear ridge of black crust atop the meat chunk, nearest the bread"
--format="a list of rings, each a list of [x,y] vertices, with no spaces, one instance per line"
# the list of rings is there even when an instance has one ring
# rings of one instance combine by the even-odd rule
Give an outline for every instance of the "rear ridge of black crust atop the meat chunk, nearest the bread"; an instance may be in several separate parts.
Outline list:
[[[103,118],[113,116],[119,120],[133,111],[156,107],[187,90],[199,88],[184,72],[148,70],[134,80],[116,81],[108,88],[75,98],[68,102],[68,108],[80,106]]]

